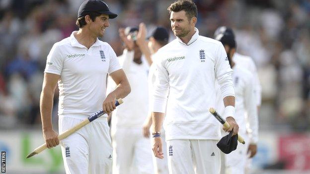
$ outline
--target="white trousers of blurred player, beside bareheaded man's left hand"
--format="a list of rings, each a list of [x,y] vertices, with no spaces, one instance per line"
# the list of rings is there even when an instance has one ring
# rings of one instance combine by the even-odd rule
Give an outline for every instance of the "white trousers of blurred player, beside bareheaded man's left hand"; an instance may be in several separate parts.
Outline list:
[[[165,152],[165,150],[167,149],[167,143],[165,140],[166,140],[165,132],[162,129],[161,130],[161,142],[162,142],[163,159],[156,158],[155,155],[152,155],[155,174],[169,174],[168,158],[167,158],[167,153]],[[153,146],[152,143],[153,143],[153,138],[151,134],[151,147]]]

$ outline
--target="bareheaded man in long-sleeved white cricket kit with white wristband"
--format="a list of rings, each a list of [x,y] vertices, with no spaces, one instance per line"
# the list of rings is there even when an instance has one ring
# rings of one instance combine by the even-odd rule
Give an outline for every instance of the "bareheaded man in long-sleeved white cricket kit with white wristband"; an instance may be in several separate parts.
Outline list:
[[[199,36],[195,28],[197,7],[177,0],[170,12],[176,39],[158,50],[153,101],[153,151],[163,158],[161,125],[167,143],[169,174],[219,174],[217,142],[221,126],[209,113],[215,107],[215,82],[221,86],[228,132],[238,132],[234,116],[233,70],[221,42]]]

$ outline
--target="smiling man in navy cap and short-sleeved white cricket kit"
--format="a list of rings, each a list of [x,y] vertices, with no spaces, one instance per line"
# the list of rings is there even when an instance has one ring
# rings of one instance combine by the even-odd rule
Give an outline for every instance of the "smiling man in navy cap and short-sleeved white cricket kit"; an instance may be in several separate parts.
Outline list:
[[[59,87],[59,133],[93,113],[115,109],[115,100],[130,93],[130,85],[116,54],[102,42],[109,19],[117,17],[101,0],[86,0],[78,9],[78,31],[55,43],[44,71],[40,99],[43,136],[48,148],[59,144],[51,114],[54,91]],[[117,88],[106,96],[107,73]],[[61,142],[67,174],[109,174],[112,145],[106,115],[79,129]]]

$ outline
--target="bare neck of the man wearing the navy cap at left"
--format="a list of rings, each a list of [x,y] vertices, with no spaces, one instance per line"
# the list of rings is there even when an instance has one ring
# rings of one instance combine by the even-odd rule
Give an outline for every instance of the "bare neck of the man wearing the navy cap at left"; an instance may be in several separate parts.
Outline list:
[[[95,42],[97,37],[89,32],[87,29],[79,29],[75,34],[78,43],[89,49]]]

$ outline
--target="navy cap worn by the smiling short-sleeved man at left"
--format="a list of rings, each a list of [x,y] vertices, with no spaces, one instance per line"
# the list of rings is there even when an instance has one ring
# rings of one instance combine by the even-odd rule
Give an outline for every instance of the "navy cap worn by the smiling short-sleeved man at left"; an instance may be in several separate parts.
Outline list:
[[[87,15],[89,12],[108,14],[110,19],[117,17],[117,14],[112,13],[108,5],[101,0],[85,0],[78,8],[78,18]]]

